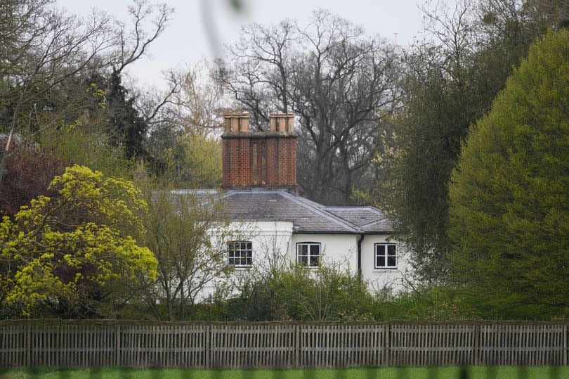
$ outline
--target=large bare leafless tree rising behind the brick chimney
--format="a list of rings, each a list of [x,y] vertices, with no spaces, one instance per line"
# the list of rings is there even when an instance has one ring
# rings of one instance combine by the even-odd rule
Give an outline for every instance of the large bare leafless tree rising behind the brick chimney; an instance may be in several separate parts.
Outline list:
[[[315,11],[307,27],[289,20],[245,27],[218,79],[258,130],[270,112],[296,113],[301,191],[346,204],[371,179],[369,162],[382,148],[397,98],[396,62],[393,46]]]

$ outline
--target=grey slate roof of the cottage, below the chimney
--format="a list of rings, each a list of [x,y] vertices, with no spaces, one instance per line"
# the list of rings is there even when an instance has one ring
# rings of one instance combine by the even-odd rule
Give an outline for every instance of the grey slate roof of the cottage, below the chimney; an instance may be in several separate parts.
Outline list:
[[[286,190],[230,190],[223,194],[232,219],[292,221],[295,233],[392,233],[374,207],[326,207]]]

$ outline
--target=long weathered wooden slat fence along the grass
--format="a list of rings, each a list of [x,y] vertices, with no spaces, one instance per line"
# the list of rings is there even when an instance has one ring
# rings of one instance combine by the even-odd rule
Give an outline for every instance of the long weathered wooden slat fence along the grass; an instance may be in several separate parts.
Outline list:
[[[0,321],[0,367],[566,365],[568,325]]]

